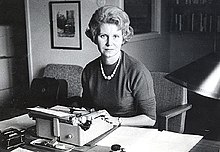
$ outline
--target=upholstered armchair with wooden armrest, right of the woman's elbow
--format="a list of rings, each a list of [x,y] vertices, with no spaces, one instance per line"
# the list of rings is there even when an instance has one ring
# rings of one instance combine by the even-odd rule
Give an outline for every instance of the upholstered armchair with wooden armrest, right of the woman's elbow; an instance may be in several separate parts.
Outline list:
[[[156,126],[159,130],[183,133],[186,111],[192,105],[187,104],[187,89],[165,79],[166,74],[151,72],[157,102]]]

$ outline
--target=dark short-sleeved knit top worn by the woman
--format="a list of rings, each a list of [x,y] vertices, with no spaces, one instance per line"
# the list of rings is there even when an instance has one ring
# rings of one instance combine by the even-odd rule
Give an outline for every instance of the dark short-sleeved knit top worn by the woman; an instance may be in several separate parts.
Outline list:
[[[101,74],[100,57],[86,65],[82,74],[83,105],[96,110],[106,109],[112,116],[146,114],[155,120],[156,101],[151,74],[143,63],[121,52],[120,65],[111,80],[105,80]],[[115,64],[104,66],[104,70],[112,71],[114,67]]]

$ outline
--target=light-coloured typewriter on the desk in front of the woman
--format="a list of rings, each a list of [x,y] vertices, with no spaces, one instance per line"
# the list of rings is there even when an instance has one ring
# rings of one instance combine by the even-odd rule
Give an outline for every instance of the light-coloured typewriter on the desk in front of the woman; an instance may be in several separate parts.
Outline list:
[[[83,146],[115,126],[105,121],[103,111],[65,106],[50,109],[28,108],[29,116],[36,120],[36,135],[57,142]]]

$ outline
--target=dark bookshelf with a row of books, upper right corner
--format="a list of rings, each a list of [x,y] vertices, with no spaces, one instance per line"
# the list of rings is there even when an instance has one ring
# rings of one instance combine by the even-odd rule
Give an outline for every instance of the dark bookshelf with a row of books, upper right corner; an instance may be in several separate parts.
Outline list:
[[[220,33],[219,6],[219,0],[170,0],[170,31]]]

